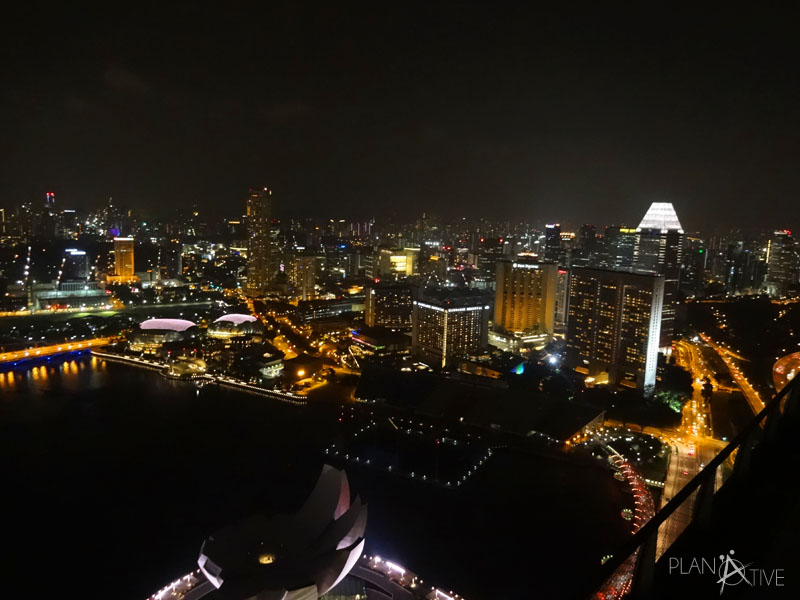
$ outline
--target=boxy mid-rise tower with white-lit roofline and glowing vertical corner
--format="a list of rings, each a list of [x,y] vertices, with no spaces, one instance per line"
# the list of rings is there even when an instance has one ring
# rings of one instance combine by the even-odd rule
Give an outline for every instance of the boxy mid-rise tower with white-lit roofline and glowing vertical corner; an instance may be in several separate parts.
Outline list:
[[[423,298],[413,303],[412,351],[444,368],[453,356],[485,350],[489,309],[482,294],[426,290]]]

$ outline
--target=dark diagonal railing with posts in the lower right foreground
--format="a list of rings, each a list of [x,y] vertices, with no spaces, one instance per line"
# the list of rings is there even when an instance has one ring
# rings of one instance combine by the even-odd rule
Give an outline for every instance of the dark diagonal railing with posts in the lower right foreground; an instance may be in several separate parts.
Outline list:
[[[797,379],[800,380],[800,377]],[[784,416],[800,413],[799,405],[800,381],[793,379],[664,508],[622,544],[603,565],[600,577],[585,591],[584,597],[608,600],[623,596],[632,600],[651,598],[656,561],[669,547],[662,545],[659,548],[659,528],[684,503],[690,509],[691,523],[700,526],[707,524],[711,517],[714,494],[727,483],[726,480],[717,486],[718,476],[721,478],[726,461],[734,458],[735,452],[730,479],[746,477],[751,467],[753,449],[762,442],[775,441],[780,421]]]

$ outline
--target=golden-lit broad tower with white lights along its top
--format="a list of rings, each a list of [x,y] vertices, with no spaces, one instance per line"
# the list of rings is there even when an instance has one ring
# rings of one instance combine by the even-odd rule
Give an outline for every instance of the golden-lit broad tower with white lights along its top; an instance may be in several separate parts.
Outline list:
[[[497,263],[494,327],[509,333],[553,334],[557,268],[517,258]]]

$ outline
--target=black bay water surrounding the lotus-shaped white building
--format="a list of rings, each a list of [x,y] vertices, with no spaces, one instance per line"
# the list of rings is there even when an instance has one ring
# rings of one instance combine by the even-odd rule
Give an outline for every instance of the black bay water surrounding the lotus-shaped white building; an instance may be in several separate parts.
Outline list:
[[[144,600],[214,529],[302,502],[338,416],[91,357],[0,373],[3,596]],[[458,490],[347,470],[368,551],[470,600],[568,597],[627,529],[571,460],[497,451]]]

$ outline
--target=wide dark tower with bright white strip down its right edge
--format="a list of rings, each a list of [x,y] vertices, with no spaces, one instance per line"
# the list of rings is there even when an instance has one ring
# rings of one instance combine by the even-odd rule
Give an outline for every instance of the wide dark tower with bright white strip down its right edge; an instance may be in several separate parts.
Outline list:
[[[573,268],[568,364],[612,385],[653,386],[663,300],[663,275]]]

